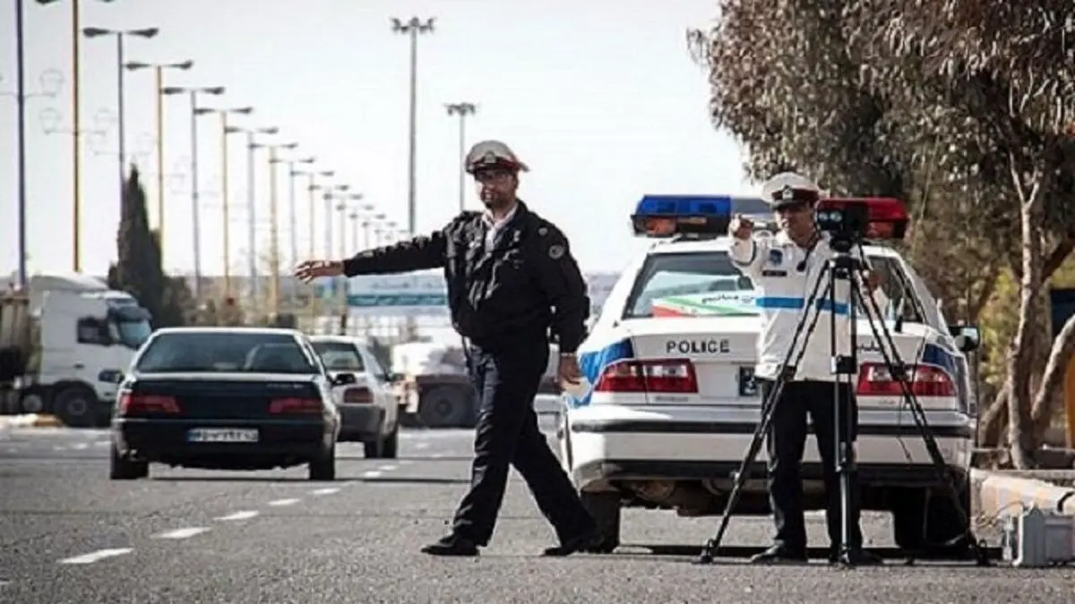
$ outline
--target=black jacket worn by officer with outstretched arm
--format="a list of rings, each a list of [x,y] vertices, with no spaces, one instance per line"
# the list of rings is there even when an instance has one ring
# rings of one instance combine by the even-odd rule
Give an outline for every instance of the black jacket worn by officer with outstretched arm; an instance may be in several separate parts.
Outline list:
[[[344,261],[347,276],[444,269],[452,323],[474,344],[493,347],[520,336],[547,336],[574,353],[586,336],[590,299],[560,229],[518,203],[485,249],[488,227],[463,212],[429,235],[368,249]]]

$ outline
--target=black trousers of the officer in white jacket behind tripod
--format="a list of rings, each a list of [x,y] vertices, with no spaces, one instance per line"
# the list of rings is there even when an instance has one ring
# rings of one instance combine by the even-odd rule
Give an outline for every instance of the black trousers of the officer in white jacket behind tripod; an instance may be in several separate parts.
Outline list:
[[[769,392],[775,384],[770,379],[759,379],[762,401],[769,399]],[[838,400],[834,400],[837,398]],[[806,550],[800,466],[808,432],[806,417],[809,415],[817,438],[818,457],[821,459],[829,542],[831,547],[840,547],[842,505],[840,476],[836,474],[835,408],[838,404],[841,432],[854,443],[858,435],[859,413],[851,387],[842,384],[840,396],[836,397],[835,385],[831,382],[788,382],[775,404],[765,442],[769,451],[769,501],[776,523],[774,542],[792,552],[804,553]],[[854,446],[851,455],[854,456]],[[851,473],[849,483],[848,545],[858,548],[862,547],[862,531],[859,526],[859,485],[856,472]]]

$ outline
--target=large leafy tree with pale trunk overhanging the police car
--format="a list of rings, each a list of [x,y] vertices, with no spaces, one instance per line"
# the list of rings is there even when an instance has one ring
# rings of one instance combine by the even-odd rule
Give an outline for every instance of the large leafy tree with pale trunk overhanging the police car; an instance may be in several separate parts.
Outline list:
[[[837,192],[906,199],[912,261],[951,287],[942,298],[962,298],[968,317],[1002,267],[1017,275],[999,400],[1013,394],[1019,466],[1035,301],[1075,247],[1075,155],[1062,129],[1075,99],[1062,31],[1073,12],[1062,0],[722,0],[720,23],[691,37],[710,68],[714,124],[746,145],[751,175],[794,166]]]

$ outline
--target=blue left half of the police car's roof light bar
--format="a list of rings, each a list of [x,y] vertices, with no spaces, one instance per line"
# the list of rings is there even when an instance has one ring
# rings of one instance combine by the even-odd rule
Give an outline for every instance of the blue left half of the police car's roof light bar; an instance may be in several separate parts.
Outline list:
[[[728,232],[736,214],[772,215],[769,204],[758,198],[648,195],[631,215],[631,227],[635,236],[654,239],[719,236]]]

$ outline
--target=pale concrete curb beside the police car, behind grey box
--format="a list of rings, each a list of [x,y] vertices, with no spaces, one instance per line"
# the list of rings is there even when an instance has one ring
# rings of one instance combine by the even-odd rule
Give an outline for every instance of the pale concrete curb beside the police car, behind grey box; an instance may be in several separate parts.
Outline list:
[[[971,480],[983,516],[998,519],[1016,516],[1023,507],[1075,516],[1075,488],[980,470],[971,471]]]

